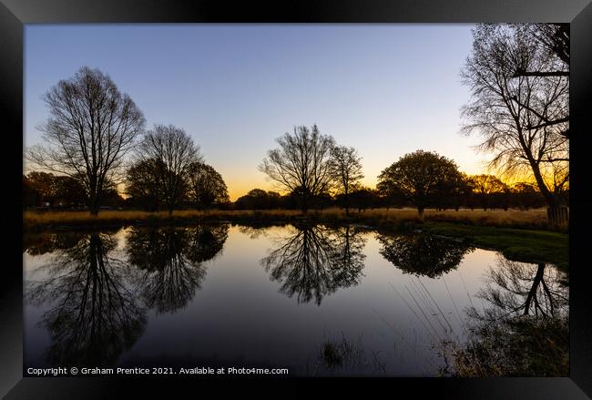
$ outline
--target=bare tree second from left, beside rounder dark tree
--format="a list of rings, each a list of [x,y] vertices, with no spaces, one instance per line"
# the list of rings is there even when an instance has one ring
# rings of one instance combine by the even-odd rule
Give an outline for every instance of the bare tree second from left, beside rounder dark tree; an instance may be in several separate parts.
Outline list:
[[[199,146],[181,128],[155,125],[139,144],[137,158],[158,160],[153,162],[154,177],[159,181],[168,215],[172,215],[187,189],[189,166],[201,161]]]

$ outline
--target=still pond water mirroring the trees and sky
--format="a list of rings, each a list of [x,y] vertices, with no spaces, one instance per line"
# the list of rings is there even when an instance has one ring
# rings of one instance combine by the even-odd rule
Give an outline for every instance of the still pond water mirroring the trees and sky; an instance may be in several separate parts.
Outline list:
[[[25,368],[434,376],[467,311],[567,307],[552,265],[358,226],[46,232],[23,257]]]

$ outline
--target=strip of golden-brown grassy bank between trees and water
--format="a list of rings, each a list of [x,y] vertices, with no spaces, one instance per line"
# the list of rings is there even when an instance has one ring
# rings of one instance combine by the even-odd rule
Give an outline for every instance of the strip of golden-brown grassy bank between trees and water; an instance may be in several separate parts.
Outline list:
[[[548,262],[568,271],[568,233],[546,229],[544,210],[426,210],[424,221],[415,210],[354,211],[312,210],[178,210],[167,212],[105,210],[92,217],[87,211],[26,210],[24,234],[44,231],[78,231],[126,226],[182,226],[201,223],[230,223],[265,227],[286,224],[352,224],[369,231],[409,234],[424,232],[459,239],[481,249],[500,251],[516,262]]]

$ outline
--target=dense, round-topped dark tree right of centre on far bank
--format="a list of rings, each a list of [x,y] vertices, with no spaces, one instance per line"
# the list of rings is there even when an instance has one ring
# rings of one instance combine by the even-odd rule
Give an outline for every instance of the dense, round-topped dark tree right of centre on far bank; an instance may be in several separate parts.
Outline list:
[[[386,196],[399,196],[413,202],[422,218],[426,207],[454,196],[463,177],[453,160],[417,150],[383,169],[378,180],[378,190]]]

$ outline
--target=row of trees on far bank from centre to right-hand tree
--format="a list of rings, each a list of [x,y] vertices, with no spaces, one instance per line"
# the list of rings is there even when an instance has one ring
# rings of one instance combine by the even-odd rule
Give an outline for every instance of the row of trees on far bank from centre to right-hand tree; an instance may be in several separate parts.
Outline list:
[[[546,204],[533,184],[520,182],[510,187],[493,175],[467,176],[453,160],[421,149],[383,169],[376,189],[364,188],[356,150],[337,145],[316,125],[294,128],[293,134],[284,134],[277,143],[279,148],[268,152],[260,170],[287,194],[251,190],[234,203],[235,208],[306,212],[339,206],[349,214],[350,209],[414,207],[421,218],[427,208],[508,210]]]

